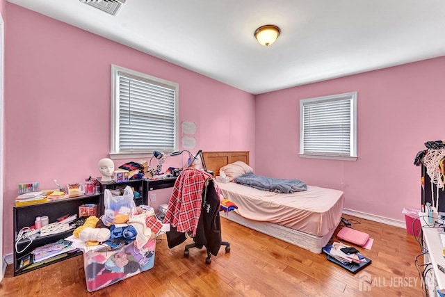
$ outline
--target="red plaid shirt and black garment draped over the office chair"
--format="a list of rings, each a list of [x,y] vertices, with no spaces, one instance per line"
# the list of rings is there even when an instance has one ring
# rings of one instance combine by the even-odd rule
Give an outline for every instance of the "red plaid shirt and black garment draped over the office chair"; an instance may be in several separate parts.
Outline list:
[[[209,173],[186,168],[175,182],[163,223],[170,223],[168,247],[183,243],[193,236],[197,248],[205,246],[217,255],[221,246],[220,199]]]

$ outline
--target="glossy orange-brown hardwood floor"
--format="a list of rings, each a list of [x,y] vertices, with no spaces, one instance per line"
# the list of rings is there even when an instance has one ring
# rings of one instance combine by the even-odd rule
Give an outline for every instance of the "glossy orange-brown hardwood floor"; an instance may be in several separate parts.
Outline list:
[[[345,217],[374,239],[372,250],[358,247],[373,262],[356,275],[328,262],[325,255],[222,218],[223,240],[230,241],[231,251],[225,253],[222,247],[209,265],[204,261],[204,249],[191,249],[185,258],[184,244],[168,249],[163,235],[151,270],[99,291],[86,291],[83,257],[79,256],[16,277],[9,265],[0,296],[424,295],[414,266],[414,257],[420,253],[414,236],[402,228]],[[368,291],[363,291],[364,287]]]

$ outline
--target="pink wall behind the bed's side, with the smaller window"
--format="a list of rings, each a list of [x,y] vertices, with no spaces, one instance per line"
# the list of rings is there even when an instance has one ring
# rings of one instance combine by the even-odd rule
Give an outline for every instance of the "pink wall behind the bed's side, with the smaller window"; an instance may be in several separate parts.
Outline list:
[[[257,173],[337,188],[345,193],[346,209],[403,220],[403,207],[420,207],[414,156],[426,141],[445,138],[444,69],[441,57],[258,95]],[[299,100],[353,91],[357,161],[300,158]],[[273,151],[279,155],[270,158]]]

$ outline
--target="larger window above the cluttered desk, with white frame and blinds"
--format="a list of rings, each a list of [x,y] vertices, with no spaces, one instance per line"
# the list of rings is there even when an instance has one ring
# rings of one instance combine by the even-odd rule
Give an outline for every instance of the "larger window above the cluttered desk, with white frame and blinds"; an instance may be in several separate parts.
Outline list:
[[[177,149],[177,83],[111,65],[111,88],[111,157]]]

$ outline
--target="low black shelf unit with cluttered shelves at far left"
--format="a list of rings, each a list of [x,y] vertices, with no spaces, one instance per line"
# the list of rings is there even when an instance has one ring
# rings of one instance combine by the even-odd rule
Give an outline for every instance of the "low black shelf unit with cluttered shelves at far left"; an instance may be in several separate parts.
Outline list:
[[[81,255],[81,251],[68,253],[66,257],[56,259],[52,262],[42,263],[39,266],[35,266],[33,268],[29,268],[26,270],[21,270],[19,268],[19,261],[25,255],[29,254],[34,248],[39,246],[44,246],[48,243],[54,243],[60,239],[65,239],[70,236],[73,230],[68,230],[67,232],[52,234],[42,237],[37,237],[33,239],[31,244],[29,244],[29,239],[22,239],[17,242],[17,234],[23,227],[29,227],[34,225],[34,220],[37,216],[48,216],[49,223],[53,223],[65,215],[79,215],[79,206],[86,203],[98,204],[100,202],[100,195],[82,195],[75,198],[66,198],[62,200],[54,200],[48,201],[40,204],[31,204],[23,207],[13,207],[13,227],[14,227],[14,275],[19,275],[22,273],[26,273],[29,271],[33,271],[38,268],[42,268],[44,266],[48,266],[50,264],[54,264],[56,262],[63,261],[65,259],[69,259],[71,257],[75,257],[77,255]],[[26,248],[25,248],[26,247]],[[20,252],[17,252],[19,250]],[[23,251],[22,251],[23,250]]]

